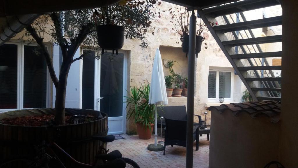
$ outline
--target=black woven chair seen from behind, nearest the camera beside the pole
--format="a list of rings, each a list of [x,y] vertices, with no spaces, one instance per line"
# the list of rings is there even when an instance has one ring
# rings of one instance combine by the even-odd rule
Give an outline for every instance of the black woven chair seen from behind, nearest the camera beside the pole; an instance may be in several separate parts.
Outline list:
[[[174,145],[184,146],[186,147],[186,129],[187,129],[187,121],[186,120],[172,120],[165,118],[165,137],[164,137],[164,154],[166,150],[166,146]],[[195,150],[199,148],[199,126],[194,126],[193,128],[193,142],[196,140]]]

